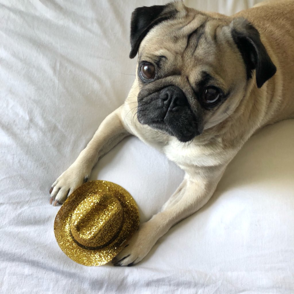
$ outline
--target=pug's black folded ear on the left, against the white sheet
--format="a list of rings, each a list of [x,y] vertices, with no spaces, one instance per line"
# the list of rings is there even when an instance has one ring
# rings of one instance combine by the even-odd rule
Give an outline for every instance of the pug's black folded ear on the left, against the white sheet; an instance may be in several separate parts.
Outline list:
[[[130,58],[134,58],[138,52],[143,38],[154,26],[172,18],[177,13],[175,5],[154,5],[150,7],[138,7],[132,13],[131,18],[131,52]]]

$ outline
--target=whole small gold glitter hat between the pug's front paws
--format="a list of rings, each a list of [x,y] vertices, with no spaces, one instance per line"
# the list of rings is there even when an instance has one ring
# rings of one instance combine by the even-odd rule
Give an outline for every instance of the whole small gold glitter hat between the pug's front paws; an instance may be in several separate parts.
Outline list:
[[[102,265],[116,256],[139,226],[132,196],[107,181],[90,181],[61,206],[54,233],[61,250],[83,265]]]

